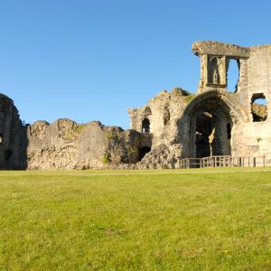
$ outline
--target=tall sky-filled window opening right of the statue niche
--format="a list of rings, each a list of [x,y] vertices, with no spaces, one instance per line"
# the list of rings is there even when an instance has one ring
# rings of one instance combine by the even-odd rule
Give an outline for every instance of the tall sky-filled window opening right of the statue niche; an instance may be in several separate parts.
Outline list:
[[[239,80],[239,61],[229,60],[229,68],[227,72],[227,89],[228,92],[237,92]]]

